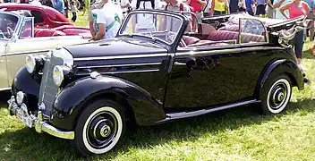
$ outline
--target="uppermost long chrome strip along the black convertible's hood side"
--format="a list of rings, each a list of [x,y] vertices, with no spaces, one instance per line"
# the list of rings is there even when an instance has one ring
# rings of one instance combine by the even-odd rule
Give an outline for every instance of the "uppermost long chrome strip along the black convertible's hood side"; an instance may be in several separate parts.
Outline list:
[[[164,54],[152,54],[152,55],[115,55],[115,56],[99,56],[99,57],[80,57],[74,58],[74,61],[92,61],[92,60],[110,60],[110,59],[128,59],[128,58],[140,58],[140,57],[159,57],[166,56]]]

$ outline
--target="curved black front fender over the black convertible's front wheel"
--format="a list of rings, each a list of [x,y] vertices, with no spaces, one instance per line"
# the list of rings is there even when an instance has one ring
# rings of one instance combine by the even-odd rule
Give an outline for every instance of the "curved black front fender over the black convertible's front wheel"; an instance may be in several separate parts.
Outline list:
[[[140,125],[166,118],[162,105],[146,90],[128,80],[112,76],[99,76],[98,78],[85,77],[76,80],[62,89],[55,98],[50,122],[58,128],[72,130],[77,117],[85,109],[89,100],[105,94],[123,96],[128,105],[132,107],[136,123]]]

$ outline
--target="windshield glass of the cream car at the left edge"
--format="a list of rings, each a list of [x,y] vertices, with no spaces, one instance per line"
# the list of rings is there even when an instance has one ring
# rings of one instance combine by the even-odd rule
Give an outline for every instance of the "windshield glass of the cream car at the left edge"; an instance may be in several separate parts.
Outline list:
[[[16,31],[19,18],[13,14],[0,13],[0,38],[12,38]]]

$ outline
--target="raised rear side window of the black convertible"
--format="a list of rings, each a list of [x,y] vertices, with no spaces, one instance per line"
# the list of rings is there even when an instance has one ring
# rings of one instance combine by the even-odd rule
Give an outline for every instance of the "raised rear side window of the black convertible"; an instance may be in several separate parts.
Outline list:
[[[241,44],[267,42],[266,30],[261,21],[240,19],[240,31]]]

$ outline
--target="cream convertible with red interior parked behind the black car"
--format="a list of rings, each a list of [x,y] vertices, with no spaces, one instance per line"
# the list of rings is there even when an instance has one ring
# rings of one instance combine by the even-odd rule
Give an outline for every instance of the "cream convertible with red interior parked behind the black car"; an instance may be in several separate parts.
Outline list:
[[[46,55],[59,46],[88,42],[82,36],[64,36],[59,30],[34,29],[33,17],[0,12],[0,91],[9,90],[25,64],[26,55]]]

